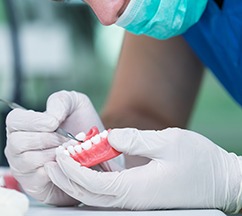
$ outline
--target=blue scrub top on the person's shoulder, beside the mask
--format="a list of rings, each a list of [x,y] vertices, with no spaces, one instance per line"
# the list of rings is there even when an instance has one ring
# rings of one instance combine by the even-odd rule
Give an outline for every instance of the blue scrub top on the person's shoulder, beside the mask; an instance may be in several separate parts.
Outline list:
[[[200,21],[184,38],[242,106],[242,0],[208,0]]]

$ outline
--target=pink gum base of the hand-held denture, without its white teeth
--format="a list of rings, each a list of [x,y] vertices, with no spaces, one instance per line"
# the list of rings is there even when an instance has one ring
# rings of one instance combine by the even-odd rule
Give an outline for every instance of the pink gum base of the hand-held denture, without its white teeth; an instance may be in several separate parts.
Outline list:
[[[110,132],[110,130],[108,130]],[[97,127],[92,127],[86,134],[84,141],[91,139],[96,134],[99,134]],[[71,155],[71,157],[79,162],[82,166],[92,167],[104,161],[117,157],[121,153],[116,151],[109,143],[107,138],[101,138],[100,143],[92,145],[88,150],[83,150],[81,153]]]

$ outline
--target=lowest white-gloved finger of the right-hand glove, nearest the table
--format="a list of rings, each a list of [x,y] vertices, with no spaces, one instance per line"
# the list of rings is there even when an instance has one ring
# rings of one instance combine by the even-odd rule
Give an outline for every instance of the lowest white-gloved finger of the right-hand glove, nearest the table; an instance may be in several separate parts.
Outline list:
[[[47,163],[45,165],[45,170],[56,186],[76,200],[90,206],[111,207],[114,205],[114,197],[92,193],[86,190],[69,179],[56,163]]]

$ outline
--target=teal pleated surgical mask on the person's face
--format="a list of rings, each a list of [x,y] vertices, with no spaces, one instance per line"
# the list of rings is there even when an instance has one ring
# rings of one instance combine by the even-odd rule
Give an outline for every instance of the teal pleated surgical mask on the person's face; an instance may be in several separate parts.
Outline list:
[[[208,0],[131,0],[116,25],[137,35],[167,39],[184,33],[203,14]]]

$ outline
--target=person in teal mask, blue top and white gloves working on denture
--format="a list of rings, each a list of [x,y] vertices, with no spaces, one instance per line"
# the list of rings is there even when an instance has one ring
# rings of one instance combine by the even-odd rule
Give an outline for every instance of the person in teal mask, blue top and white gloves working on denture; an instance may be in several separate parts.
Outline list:
[[[45,112],[9,113],[5,153],[23,189],[60,206],[238,212],[241,157],[185,128],[205,66],[242,105],[242,2],[85,3],[104,25],[127,30],[113,85],[101,118],[89,98],[74,91],[52,94]],[[125,167],[110,160],[86,168],[55,153],[64,142],[56,128],[76,134],[93,125],[114,128],[108,141],[124,153]]]

